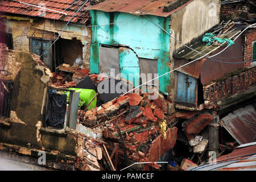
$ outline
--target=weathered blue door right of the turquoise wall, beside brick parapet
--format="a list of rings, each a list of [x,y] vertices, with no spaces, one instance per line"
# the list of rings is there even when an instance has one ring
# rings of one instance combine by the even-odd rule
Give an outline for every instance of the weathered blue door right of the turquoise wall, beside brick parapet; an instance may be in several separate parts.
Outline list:
[[[176,101],[196,104],[196,78],[177,72]]]

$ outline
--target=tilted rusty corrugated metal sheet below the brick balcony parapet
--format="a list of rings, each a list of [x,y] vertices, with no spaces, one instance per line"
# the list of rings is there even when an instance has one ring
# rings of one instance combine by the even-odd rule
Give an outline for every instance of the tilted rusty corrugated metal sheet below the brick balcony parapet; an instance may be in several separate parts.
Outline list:
[[[239,144],[256,142],[256,110],[252,104],[229,113],[220,120],[220,125]]]

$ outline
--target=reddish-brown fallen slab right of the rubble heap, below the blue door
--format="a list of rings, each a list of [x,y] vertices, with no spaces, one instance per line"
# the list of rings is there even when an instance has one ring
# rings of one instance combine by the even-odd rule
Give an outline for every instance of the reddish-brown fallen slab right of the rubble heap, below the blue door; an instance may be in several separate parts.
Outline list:
[[[213,117],[211,114],[200,114],[196,118],[192,119],[192,121],[187,123],[185,126],[185,133],[198,134],[212,121]]]

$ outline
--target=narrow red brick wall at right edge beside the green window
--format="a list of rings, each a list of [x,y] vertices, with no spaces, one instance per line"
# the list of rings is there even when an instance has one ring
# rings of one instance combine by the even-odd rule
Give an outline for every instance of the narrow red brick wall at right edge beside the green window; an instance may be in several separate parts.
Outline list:
[[[246,31],[245,35],[245,42],[244,42],[244,52],[245,52],[245,58],[244,61],[250,61],[253,60],[253,43],[256,42],[256,28],[249,29]],[[256,63],[254,61],[254,63]],[[250,67],[251,64],[254,64],[252,62],[245,63],[245,67]]]

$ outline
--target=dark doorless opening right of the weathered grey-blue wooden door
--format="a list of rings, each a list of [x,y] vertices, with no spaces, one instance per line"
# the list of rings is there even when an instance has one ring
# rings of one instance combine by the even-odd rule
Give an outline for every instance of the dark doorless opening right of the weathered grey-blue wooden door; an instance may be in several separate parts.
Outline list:
[[[53,70],[61,64],[73,65],[77,57],[80,57],[82,60],[83,45],[76,38],[72,40],[60,38],[52,47]]]

